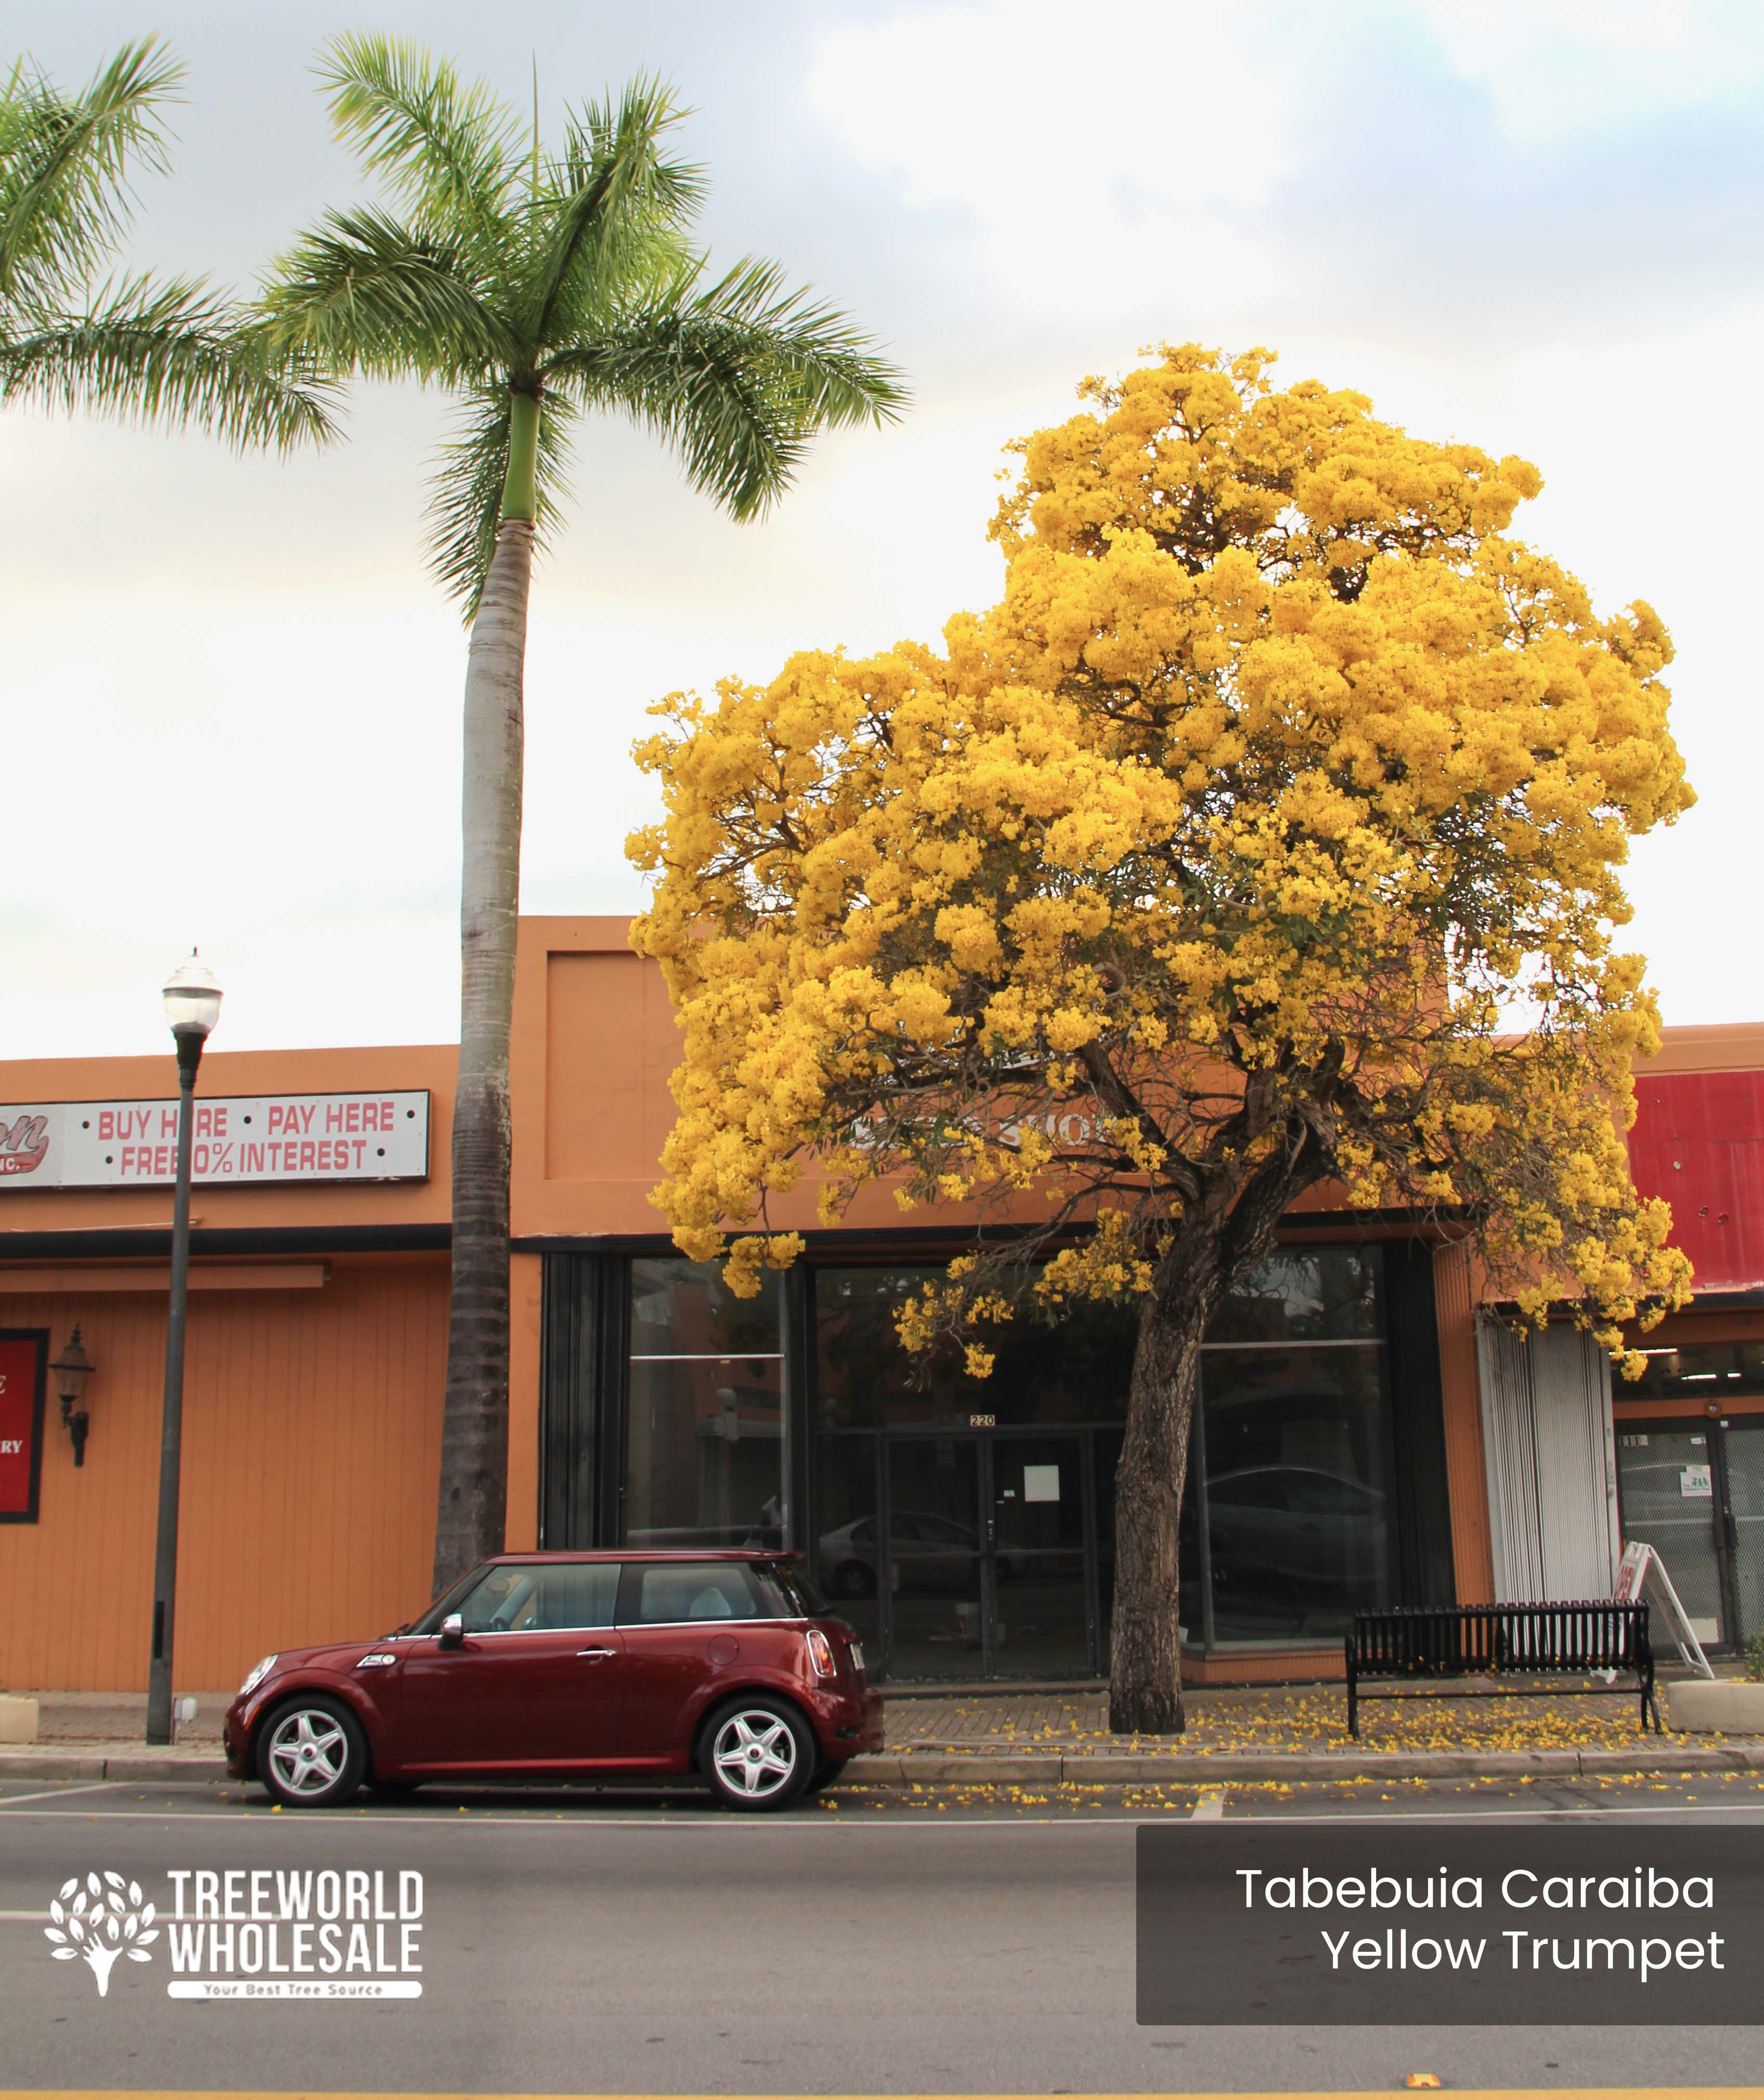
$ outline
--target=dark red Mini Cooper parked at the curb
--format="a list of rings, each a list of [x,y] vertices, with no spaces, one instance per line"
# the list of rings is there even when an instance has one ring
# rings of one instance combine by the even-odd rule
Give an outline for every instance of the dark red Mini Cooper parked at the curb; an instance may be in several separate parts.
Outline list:
[[[504,1554],[382,1640],[267,1655],[225,1739],[290,1808],[678,1772],[783,1808],[882,1747],[882,1695],[788,1554]]]

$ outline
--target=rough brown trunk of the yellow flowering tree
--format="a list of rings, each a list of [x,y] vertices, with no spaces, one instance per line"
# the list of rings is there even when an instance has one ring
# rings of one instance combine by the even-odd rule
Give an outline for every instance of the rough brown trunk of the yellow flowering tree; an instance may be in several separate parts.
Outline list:
[[[1166,1256],[1161,1266],[1170,1264]],[[1201,1386],[1201,1336],[1218,1298],[1214,1277],[1212,1262],[1203,1273],[1184,1262],[1174,1287],[1155,1287],[1140,1308],[1128,1434],[1115,1472],[1109,1726],[1119,1735],[1182,1732],[1176,1533]]]

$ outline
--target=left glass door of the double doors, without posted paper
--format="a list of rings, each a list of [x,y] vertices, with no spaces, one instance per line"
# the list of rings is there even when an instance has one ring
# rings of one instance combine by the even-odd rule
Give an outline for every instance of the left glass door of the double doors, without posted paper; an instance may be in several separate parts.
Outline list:
[[[888,1674],[981,1678],[991,1667],[991,1569],[983,1552],[976,1436],[890,1436]]]

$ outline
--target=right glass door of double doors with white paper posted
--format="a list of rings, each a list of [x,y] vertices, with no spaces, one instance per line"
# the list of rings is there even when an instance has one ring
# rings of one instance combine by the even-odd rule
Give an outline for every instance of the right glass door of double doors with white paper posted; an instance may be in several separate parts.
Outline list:
[[[1092,1667],[1094,1583],[1077,1436],[989,1436],[993,1674],[1077,1678]]]

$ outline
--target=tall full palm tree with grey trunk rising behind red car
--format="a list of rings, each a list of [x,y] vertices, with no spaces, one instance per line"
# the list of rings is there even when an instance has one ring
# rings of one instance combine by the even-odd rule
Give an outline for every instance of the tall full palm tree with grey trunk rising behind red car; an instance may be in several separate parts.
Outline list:
[[[460,880],[454,1292],[435,1586],[500,1552],[508,1485],[508,1025],[521,861],[527,584],[559,523],[571,426],[615,410],[737,519],[811,437],[899,414],[899,374],[771,262],[712,279],[701,170],[670,160],[672,90],[632,80],[546,151],[483,82],[380,36],[323,50],[332,122],[388,208],[328,212],[277,262],[271,340],[456,397],[430,565],[470,626]]]

